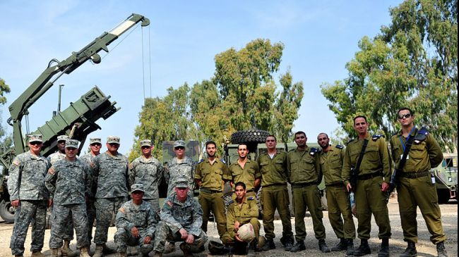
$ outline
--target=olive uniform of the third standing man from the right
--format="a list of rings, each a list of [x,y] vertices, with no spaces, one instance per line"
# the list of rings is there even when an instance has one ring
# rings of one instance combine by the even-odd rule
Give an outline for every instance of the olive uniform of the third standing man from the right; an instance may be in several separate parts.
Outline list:
[[[323,179],[327,189],[328,219],[336,237],[355,238],[355,225],[352,218],[349,194],[342,183],[342,160],[345,151],[342,146],[332,146],[328,152],[319,153]],[[342,215],[342,218],[341,218]],[[343,222],[344,219],[344,222]]]

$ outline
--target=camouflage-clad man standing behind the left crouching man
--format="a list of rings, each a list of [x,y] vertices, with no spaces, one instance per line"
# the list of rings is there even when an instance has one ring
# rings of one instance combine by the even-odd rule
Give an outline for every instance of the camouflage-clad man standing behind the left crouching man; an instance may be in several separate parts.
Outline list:
[[[152,150],[153,146],[150,140],[141,141],[142,156],[136,158],[129,165],[129,185],[143,184],[145,189],[143,201],[148,201],[159,216],[160,198],[157,187],[160,184],[164,168],[162,163],[151,155]]]

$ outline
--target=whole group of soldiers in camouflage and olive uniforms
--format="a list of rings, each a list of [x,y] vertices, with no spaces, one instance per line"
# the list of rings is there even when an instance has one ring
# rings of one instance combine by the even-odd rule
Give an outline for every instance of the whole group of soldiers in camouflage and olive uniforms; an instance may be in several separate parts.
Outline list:
[[[398,170],[398,203],[407,242],[400,256],[417,256],[418,206],[438,256],[447,256],[436,188],[429,173],[430,168],[443,160],[443,155],[434,137],[424,127],[416,127],[414,120],[415,113],[410,108],[398,111],[402,129],[391,137],[391,154],[383,137],[371,136],[366,117],[358,115],[354,118],[358,137],[345,148],[330,145],[326,133],[318,134],[321,148],[311,148],[306,144],[306,134],[299,131],[294,134],[297,148],[285,152],[277,149],[276,137],[269,135],[266,153],[251,160],[247,145],[239,144],[239,158],[231,165],[217,158],[217,144],[212,141],[205,143],[206,157],[194,163],[185,155],[185,143],[179,140],[174,142],[176,156],[163,167],[152,156],[153,145],[148,139],[141,141],[142,155],[129,164],[117,151],[119,137],[113,136],[107,138],[105,153],[100,153],[100,139],[90,139],[91,151],[81,157],[77,157],[78,141],[60,136],[59,152],[46,159],[40,155],[41,135],[31,135],[30,151],[18,155],[9,170],[8,192],[11,205],[16,207],[10,248],[16,257],[23,256],[25,235],[33,221],[32,257],[44,256],[41,250],[45,217],[47,206],[52,206],[49,247],[53,257],[71,256],[69,242],[73,239],[73,229],[80,255],[88,257],[94,219],[97,223],[93,256],[101,257],[107,248],[107,232],[114,213],[117,226],[114,241],[121,256],[126,256],[127,246],[140,246],[144,255],[153,251],[153,256],[162,256],[174,248],[174,242],[182,242],[180,249],[184,256],[203,251],[211,212],[220,240],[229,249],[241,254],[247,253],[249,248],[269,251],[276,247],[273,222],[276,210],[282,220],[280,242],[285,251],[294,253],[306,249],[304,217],[307,208],[318,248],[324,253],[346,251],[347,256],[371,253],[368,239],[373,214],[381,239],[378,257],[385,257],[390,254],[391,225],[386,198],[393,161]],[[353,177],[355,175],[357,177]],[[158,184],[162,177],[169,187],[167,199],[160,206]],[[340,239],[331,249],[325,242],[321,193],[317,187],[322,179],[326,184],[330,224]],[[228,206],[223,198],[225,182],[234,190]],[[287,183],[292,186],[295,236]],[[260,187],[264,244],[261,244],[256,204],[256,192]],[[200,189],[198,201],[193,199],[194,188]],[[129,190],[130,201],[127,198]],[[354,194],[355,206],[350,204],[350,192]],[[352,213],[357,217],[357,236],[361,240],[355,249]],[[254,230],[251,242],[239,234],[240,227],[248,224]]]

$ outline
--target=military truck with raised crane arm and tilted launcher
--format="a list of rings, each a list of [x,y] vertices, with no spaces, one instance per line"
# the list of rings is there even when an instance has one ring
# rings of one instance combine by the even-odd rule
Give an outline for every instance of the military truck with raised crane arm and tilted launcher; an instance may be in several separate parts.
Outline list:
[[[13,127],[14,146],[12,149],[0,153],[2,166],[0,173],[0,216],[3,220],[14,222],[14,208],[10,204],[6,182],[8,181],[8,168],[13,158],[28,151],[27,137],[22,132],[22,121],[28,115],[30,106],[46,93],[62,75],[72,73],[86,61],[100,63],[101,57],[97,53],[101,50],[108,52],[107,46],[110,43],[139,22],[141,22],[142,27],[150,25],[148,18],[133,13],[112,30],[102,33],[93,42],[90,42],[80,51],[73,52],[63,61],[53,58],[40,76],[9,106],[11,118],[8,118],[8,124]],[[56,113],[36,131],[28,134],[43,135],[42,155],[45,157],[57,150],[57,136],[62,134],[80,141],[79,150],[81,151],[88,134],[100,129],[100,126],[95,122],[100,118],[107,119],[119,111],[119,108],[115,106],[116,102],[109,101],[109,98],[110,96],[105,96],[98,87],[94,87],[83,94],[80,99],[71,103],[66,110]]]

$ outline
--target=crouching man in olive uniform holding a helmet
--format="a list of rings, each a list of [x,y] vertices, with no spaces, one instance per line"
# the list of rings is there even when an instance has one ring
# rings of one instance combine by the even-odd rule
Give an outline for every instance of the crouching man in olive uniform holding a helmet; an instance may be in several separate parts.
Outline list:
[[[227,231],[224,244],[232,244],[234,253],[246,253],[247,243],[238,237],[237,230],[242,225],[250,223],[254,227],[255,240],[260,235],[260,222],[258,221],[258,206],[254,196],[246,196],[246,184],[237,182],[235,185],[236,199],[228,206]]]

